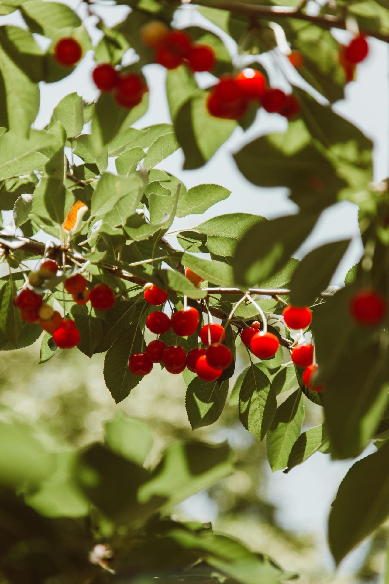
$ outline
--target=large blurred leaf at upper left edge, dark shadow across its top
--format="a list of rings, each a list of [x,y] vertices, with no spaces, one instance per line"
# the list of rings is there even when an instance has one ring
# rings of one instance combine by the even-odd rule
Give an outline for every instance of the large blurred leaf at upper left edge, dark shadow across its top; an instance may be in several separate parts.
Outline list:
[[[0,27],[0,126],[22,138],[29,136],[39,109],[41,55],[29,32],[14,26]]]

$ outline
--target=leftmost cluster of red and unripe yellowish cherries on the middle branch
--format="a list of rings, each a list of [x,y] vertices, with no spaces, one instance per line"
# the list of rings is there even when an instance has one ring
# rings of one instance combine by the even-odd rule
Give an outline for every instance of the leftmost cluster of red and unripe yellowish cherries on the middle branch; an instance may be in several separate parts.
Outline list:
[[[44,260],[38,270],[29,274],[29,286],[23,287],[13,302],[20,311],[24,322],[38,323],[43,331],[52,333],[55,345],[60,349],[72,349],[78,345],[80,333],[74,321],[62,318],[58,311],[43,303],[43,297],[34,287],[41,288],[45,281],[50,280],[58,272],[58,264],[51,259]],[[90,301],[95,310],[108,310],[115,302],[115,295],[107,284],[96,284],[89,291],[86,279],[82,274],[75,274],[64,282],[65,290],[72,295],[76,304],[86,304]]]

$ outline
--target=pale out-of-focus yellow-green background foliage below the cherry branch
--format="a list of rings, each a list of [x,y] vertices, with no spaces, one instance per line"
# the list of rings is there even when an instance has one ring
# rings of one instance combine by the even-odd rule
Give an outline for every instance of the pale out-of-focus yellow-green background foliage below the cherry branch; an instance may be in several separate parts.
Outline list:
[[[380,574],[386,563],[389,524],[370,540],[358,571],[339,576],[331,573],[328,558],[323,557],[318,533],[293,532],[281,526],[277,506],[269,497],[265,444],[258,443],[241,426],[236,406],[227,406],[218,423],[193,434],[183,408],[185,384],[181,376],[170,376],[155,366],[150,376],[117,405],[101,375],[103,355],[88,360],[72,350],[39,365],[39,350],[37,342],[28,349],[2,353],[2,420],[29,423],[49,450],[72,449],[102,441],[103,423],[121,412],[152,429],[154,442],[146,466],[154,466],[163,447],[177,440],[227,440],[236,456],[233,474],[174,507],[174,518],[212,519],[213,529],[239,538],[253,551],[282,558],[289,571],[302,574],[301,584],[383,582]],[[240,346],[235,377],[246,366],[246,359],[246,351]],[[306,427],[321,423],[321,416],[321,408],[306,401]],[[0,584],[8,582],[0,574]]]

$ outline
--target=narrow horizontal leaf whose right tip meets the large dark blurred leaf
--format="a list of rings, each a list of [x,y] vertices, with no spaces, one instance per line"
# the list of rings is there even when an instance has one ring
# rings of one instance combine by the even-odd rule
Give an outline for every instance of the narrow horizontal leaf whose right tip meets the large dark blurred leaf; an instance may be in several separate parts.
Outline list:
[[[235,237],[240,239],[250,227],[258,225],[264,221],[264,217],[260,215],[252,215],[251,213],[227,213],[226,215],[218,215],[204,223],[200,223],[194,227],[199,233],[206,235],[221,235],[222,237]]]

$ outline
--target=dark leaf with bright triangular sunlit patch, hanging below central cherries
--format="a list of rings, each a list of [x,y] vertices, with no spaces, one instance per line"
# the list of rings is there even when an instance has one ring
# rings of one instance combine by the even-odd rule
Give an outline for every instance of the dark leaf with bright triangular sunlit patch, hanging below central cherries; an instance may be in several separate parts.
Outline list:
[[[226,403],[228,380],[203,381],[195,378],[188,385],[185,397],[188,420],[192,430],[213,424],[219,419]]]

